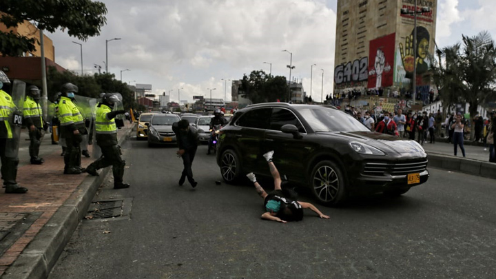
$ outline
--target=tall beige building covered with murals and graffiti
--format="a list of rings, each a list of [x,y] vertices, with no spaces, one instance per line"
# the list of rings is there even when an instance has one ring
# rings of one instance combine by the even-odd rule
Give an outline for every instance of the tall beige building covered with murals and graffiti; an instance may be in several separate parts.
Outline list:
[[[417,14],[413,45],[413,14],[406,8],[431,8]],[[338,0],[334,92],[384,88],[411,90],[417,52],[417,93],[427,93],[424,75],[434,54],[437,0]]]

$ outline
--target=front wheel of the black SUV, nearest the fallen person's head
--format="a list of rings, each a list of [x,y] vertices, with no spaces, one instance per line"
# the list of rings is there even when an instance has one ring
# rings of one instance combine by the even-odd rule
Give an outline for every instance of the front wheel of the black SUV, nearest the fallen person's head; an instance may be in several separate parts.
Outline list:
[[[344,176],[341,169],[331,161],[321,161],[311,172],[311,189],[318,203],[335,206],[345,198]]]

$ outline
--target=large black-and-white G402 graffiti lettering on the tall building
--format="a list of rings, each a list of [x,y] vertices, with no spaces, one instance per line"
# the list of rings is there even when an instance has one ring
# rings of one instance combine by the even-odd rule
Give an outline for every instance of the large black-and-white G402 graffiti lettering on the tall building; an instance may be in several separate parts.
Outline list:
[[[355,61],[346,64],[338,65],[334,69],[334,82],[336,85],[347,83],[360,83],[366,81],[369,73],[367,66],[369,65],[369,57],[356,59]]]

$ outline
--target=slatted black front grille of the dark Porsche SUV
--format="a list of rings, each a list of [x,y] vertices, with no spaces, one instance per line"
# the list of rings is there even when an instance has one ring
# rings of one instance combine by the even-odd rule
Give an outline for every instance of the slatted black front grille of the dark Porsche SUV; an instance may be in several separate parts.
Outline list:
[[[427,169],[427,159],[422,161],[402,161],[398,163],[386,162],[367,162],[364,165],[363,174],[369,176],[382,176],[391,174],[392,176],[401,176],[424,172]]]

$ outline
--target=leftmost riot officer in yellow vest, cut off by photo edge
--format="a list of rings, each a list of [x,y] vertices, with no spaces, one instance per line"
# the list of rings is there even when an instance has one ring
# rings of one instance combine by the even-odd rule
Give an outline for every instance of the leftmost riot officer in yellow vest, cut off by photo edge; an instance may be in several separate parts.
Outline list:
[[[28,189],[17,185],[17,165],[19,158],[14,152],[9,152],[8,148],[12,145],[9,141],[18,141],[19,138],[14,138],[12,133],[11,116],[12,112],[17,110],[16,105],[12,101],[12,97],[3,91],[3,84],[10,84],[10,80],[2,71],[0,71],[0,158],[1,158],[1,176],[3,186],[6,188],[7,194],[24,194]],[[17,152],[16,152],[17,153]],[[12,156],[10,156],[12,154]]]

